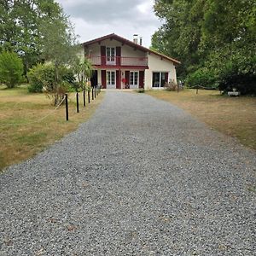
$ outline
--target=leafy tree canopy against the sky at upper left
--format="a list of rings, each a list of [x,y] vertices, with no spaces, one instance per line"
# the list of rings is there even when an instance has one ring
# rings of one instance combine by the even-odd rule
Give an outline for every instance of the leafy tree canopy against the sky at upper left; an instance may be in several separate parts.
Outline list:
[[[67,15],[54,0],[1,0],[0,52],[15,51],[25,73],[37,61],[63,63],[76,44]]]

